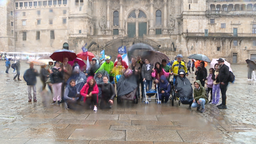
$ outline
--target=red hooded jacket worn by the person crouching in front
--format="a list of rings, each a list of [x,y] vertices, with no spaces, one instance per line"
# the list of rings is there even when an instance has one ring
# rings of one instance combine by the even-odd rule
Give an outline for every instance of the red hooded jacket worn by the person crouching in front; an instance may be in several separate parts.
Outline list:
[[[82,88],[81,91],[80,91],[80,94],[84,97],[84,102],[85,102],[85,100],[86,100],[86,95],[88,95],[89,81],[90,81],[91,79],[93,79],[93,77],[88,77],[87,83],[84,84],[83,88]],[[93,90],[92,90],[92,95],[93,95],[93,94],[97,94],[97,102],[98,102],[99,88],[98,88],[98,86],[97,86],[97,84],[96,84],[95,79],[93,79],[93,80],[94,80],[94,86],[93,86]]]

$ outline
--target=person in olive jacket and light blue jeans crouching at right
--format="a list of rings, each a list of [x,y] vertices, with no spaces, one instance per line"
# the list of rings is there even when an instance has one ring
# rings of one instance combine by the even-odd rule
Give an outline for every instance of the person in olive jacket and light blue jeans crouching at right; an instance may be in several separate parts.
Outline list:
[[[195,85],[194,100],[193,100],[191,107],[196,108],[196,110],[199,111],[200,106],[202,106],[202,109],[200,112],[204,113],[205,104],[207,104],[207,102],[208,102],[208,99],[206,97],[205,88],[202,86],[202,84],[199,80],[196,80],[194,85]]]

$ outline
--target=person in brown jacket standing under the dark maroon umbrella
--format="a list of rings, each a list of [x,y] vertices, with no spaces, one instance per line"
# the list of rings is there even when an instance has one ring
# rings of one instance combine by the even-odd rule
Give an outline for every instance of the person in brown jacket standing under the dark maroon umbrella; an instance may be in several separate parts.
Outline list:
[[[67,80],[72,74],[72,66],[68,64],[68,58],[64,58],[64,62],[60,65],[63,70],[63,83],[61,85],[61,102],[64,102],[64,90],[67,85]]]

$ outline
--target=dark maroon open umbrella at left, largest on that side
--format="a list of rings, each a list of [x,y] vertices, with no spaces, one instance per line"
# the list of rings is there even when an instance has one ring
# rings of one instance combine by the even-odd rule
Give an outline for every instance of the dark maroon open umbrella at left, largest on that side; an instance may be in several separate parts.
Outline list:
[[[53,54],[50,56],[52,60],[54,61],[64,61],[64,58],[68,58],[68,61],[73,61],[77,58],[76,53],[69,51],[67,49],[61,49],[53,52]]]

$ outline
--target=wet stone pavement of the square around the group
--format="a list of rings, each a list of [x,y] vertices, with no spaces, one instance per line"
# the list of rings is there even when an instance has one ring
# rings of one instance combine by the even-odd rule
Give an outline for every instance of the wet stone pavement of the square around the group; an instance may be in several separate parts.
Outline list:
[[[29,65],[21,65],[22,81],[13,81],[12,68],[5,74],[0,61],[0,143],[256,143],[256,82],[247,81],[246,65],[232,65],[236,82],[228,86],[228,109],[207,104],[205,113],[178,102],[116,104],[116,99],[112,109],[67,110],[51,104],[39,79],[38,102],[28,102],[23,74]]]

